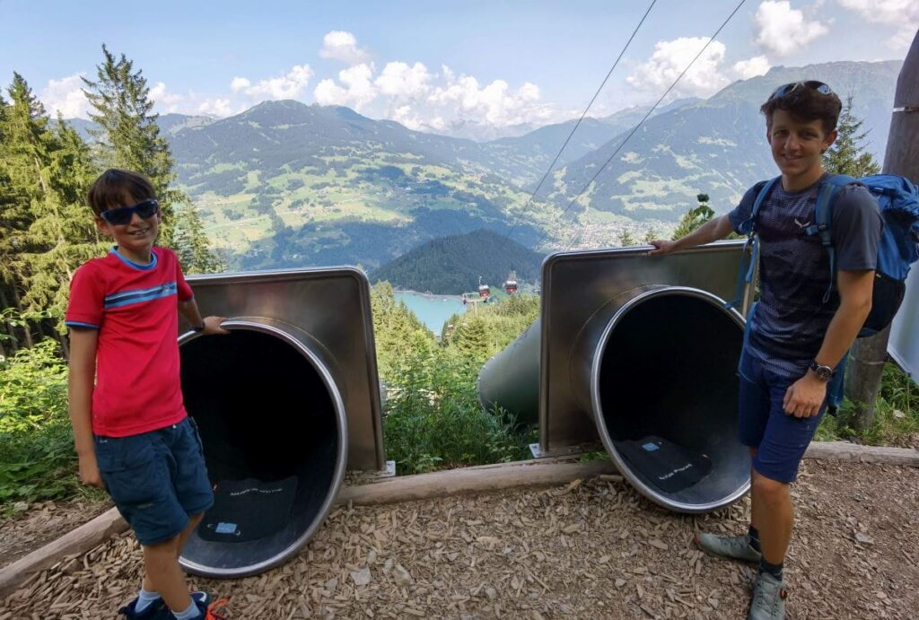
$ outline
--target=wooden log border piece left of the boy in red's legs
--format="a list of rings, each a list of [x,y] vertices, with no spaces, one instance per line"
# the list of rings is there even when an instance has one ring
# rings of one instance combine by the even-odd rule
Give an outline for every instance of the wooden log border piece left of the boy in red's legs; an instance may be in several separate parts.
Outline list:
[[[118,509],[112,508],[100,514],[92,521],[0,569],[0,596],[6,596],[15,590],[17,585],[32,573],[47,569],[67,556],[82,555],[126,529],[128,524],[121,518]]]

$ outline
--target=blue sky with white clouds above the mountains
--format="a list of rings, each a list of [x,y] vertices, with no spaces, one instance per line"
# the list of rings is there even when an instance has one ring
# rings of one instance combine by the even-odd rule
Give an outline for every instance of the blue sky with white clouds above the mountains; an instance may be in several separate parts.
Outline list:
[[[656,0],[590,116],[655,102],[740,0]],[[0,0],[0,85],[86,118],[102,45],[160,113],[270,99],[343,105],[413,130],[491,137],[576,118],[651,0],[202,3]],[[902,59],[916,0],[747,0],[671,93],[711,96],[777,65]]]

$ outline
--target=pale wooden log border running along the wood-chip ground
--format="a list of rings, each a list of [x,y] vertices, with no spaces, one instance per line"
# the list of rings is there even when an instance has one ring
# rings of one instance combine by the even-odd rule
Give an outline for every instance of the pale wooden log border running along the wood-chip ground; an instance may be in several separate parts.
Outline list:
[[[919,450],[848,442],[814,442],[805,458],[834,459],[919,468]],[[574,460],[573,460],[574,459]],[[474,494],[521,487],[546,487],[613,474],[607,459],[578,462],[577,456],[540,458],[514,463],[448,469],[430,474],[379,479],[368,484],[344,487],[336,503],[371,505],[431,500],[451,495]],[[128,529],[114,508],[62,535],[44,547],[0,569],[0,596],[6,596],[23,581],[63,559],[79,556],[114,535]]]

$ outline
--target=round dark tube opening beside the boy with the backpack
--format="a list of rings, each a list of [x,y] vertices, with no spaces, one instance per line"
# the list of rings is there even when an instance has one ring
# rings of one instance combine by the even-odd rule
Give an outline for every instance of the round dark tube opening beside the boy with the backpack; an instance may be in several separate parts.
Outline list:
[[[640,297],[611,321],[594,378],[601,439],[653,501],[705,512],[748,488],[737,436],[742,345],[732,313],[692,289]]]

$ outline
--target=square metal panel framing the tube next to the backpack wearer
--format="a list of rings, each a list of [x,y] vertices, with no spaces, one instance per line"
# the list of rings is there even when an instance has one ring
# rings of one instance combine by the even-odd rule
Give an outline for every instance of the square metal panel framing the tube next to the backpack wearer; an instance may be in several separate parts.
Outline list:
[[[648,256],[650,247],[562,252],[542,265],[542,346],[539,447],[563,453],[599,442],[596,424],[576,398],[570,375],[584,325],[611,299],[639,287],[691,287],[733,299],[743,241],[719,242],[678,254]]]

